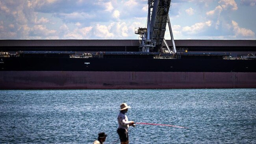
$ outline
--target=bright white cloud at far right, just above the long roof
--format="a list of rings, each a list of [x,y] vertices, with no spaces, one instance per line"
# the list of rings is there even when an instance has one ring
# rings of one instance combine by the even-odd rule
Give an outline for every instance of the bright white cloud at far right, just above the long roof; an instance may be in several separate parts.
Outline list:
[[[240,28],[234,20],[232,20],[232,26],[234,28],[235,37],[255,37],[255,33],[246,28]]]

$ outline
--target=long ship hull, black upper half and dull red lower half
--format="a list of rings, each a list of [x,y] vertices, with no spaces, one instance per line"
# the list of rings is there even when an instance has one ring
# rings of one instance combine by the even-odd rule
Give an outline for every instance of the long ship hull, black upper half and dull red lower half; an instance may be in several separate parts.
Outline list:
[[[256,88],[255,59],[2,57],[0,89]]]

